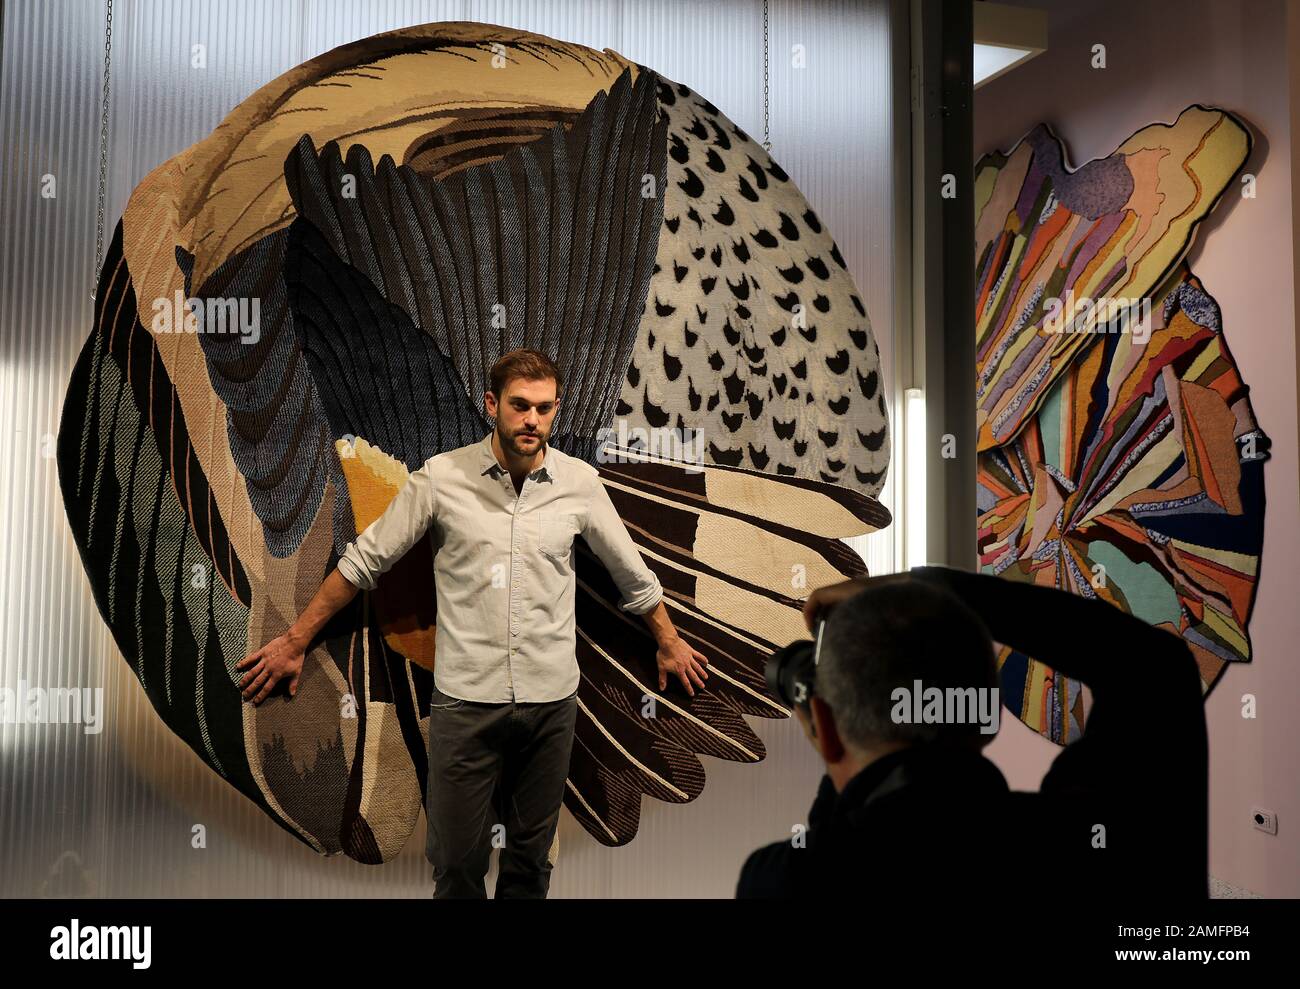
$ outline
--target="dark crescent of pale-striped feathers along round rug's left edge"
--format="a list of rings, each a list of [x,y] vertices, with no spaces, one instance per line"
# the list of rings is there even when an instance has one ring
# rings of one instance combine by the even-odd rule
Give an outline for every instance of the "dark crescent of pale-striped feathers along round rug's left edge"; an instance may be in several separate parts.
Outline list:
[[[138,318],[121,224],[64,399],[56,456],[95,602],[150,702],[208,765],[292,832],[250,772],[242,703],[230,689],[250,578],[155,338]]]

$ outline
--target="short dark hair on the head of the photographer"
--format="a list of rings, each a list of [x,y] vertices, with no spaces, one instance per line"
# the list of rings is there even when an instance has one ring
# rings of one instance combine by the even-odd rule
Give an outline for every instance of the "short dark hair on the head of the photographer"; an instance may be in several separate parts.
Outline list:
[[[975,719],[914,724],[897,720],[894,690],[910,698],[923,690],[996,689],[993,642],[984,623],[957,597],[927,581],[902,576],[868,584],[841,602],[826,623],[816,693],[835,713],[841,738],[855,747],[880,742],[980,738]],[[997,695],[991,695],[993,703]],[[984,741],[992,736],[984,734]]]

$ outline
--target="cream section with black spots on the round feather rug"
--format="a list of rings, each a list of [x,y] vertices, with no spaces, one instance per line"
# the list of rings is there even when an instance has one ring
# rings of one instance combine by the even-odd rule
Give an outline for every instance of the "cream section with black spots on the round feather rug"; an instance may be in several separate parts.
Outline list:
[[[706,459],[884,486],[889,416],[871,320],[829,230],[716,107],[660,81],[668,183],[619,413],[702,430]]]

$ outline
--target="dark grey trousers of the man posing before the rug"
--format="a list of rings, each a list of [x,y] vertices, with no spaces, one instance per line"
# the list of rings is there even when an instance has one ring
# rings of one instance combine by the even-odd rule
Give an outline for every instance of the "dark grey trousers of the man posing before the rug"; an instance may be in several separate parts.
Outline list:
[[[434,899],[485,898],[493,847],[497,899],[546,897],[576,721],[576,691],[485,704],[433,689],[425,856]]]

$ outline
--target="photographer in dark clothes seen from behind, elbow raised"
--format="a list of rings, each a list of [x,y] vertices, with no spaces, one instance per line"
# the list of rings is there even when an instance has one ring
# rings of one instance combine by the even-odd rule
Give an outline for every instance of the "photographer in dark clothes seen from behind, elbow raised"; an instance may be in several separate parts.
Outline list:
[[[941,567],[822,587],[805,608],[810,629],[820,617],[796,716],[827,772],[806,830],[754,851],[737,897],[988,901],[1026,879],[1083,901],[1206,897],[1205,713],[1178,636]],[[1092,690],[1083,737],[1037,793],[1011,791],[982,752],[997,730],[994,639]]]

